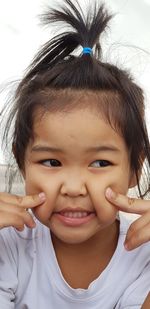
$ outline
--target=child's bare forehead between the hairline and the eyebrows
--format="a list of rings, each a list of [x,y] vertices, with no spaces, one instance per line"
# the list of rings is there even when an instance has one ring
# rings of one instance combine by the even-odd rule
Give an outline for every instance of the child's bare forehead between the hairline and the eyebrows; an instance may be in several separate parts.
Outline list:
[[[36,113],[34,144],[52,144],[55,147],[88,149],[111,145],[126,150],[124,139],[105,120],[103,115],[89,106],[68,112],[47,111]]]

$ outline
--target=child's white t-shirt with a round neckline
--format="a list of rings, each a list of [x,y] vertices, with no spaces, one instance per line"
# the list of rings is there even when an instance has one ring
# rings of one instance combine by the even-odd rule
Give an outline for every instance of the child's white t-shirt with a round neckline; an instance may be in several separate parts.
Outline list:
[[[49,229],[40,222],[23,232],[1,230],[0,309],[141,308],[150,290],[150,243],[127,252],[123,242],[129,224],[121,215],[116,251],[88,289],[67,284]]]

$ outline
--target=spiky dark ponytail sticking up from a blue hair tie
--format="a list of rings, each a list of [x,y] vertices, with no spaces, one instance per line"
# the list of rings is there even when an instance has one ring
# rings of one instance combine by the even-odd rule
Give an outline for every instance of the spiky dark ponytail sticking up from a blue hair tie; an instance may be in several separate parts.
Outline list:
[[[44,74],[44,72],[46,73],[52,70],[52,78],[47,81],[48,84],[54,87],[66,87],[67,83],[65,83],[65,85],[63,83],[61,84],[62,79],[59,80],[57,78],[64,69],[66,78],[64,77],[63,79],[67,80],[67,77],[69,77],[69,79],[72,80],[72,84],[68,84],[68,86],[78,88],[80,85],[76,84],[75,81],[73,82],[74,79],[72,79],[70,74],[68,76],[69,72],[66,70],[66,65],[68,64],[70,66],[71,64],[74,71],[75,68],[73,68],[73,66],[77,68],[78,62],[79,66],[84,62],[83,66],[86,67],[85,61],[91,62],[91,60],[87,59],[89,56],[100,60],[100,36],[106,29],[112,15],[108,14],[103,4],[98,5],[97,2],[94,3],[94,1],[92,1],[93,7],[89,8],[86,15],[83,13],[77,0],[74,0],[75,4],[70,0],[64,0],[63,2],[64,6],[61,6],[59,10],[51,10],[49,8],[45,14],[41,15],[41,20],[44,25],[58,23],[59,26],[62,27],[64,25],[68,26],[69,30],[56,35],[43,46],[31,63],[25,80],[29,80],[38,74],[41,75]],[[80,55],[74,56],[73,54],[79,47],[82,48]],[[85,53],[84,48],[90,48],[92,52]],[[57,67],[56,71],[55,66]],[[57,83],[55,79],[57,79]],[[84,85],[81,85],[81,88],[82,87],[84,87]]]

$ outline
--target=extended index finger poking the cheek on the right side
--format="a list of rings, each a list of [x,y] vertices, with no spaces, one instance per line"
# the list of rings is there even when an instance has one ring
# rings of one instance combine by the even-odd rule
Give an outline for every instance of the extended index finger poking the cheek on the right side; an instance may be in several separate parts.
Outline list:
[[[116,193],[110,188],[106,189],[105,196],[109,202],[124,212],[142,215],[150,210],[149,200],[130,198]]]

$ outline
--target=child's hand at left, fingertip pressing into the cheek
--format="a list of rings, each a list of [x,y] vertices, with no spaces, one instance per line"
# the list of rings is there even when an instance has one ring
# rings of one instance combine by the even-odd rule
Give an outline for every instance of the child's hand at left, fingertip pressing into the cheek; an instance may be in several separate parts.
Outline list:
[[[27,227],[35,227],[29,208],[34,208],[46,200],[45,194],[32,196],[17,196],[8,193],[0,193],[0,229],[13,226],[19,231]]]

